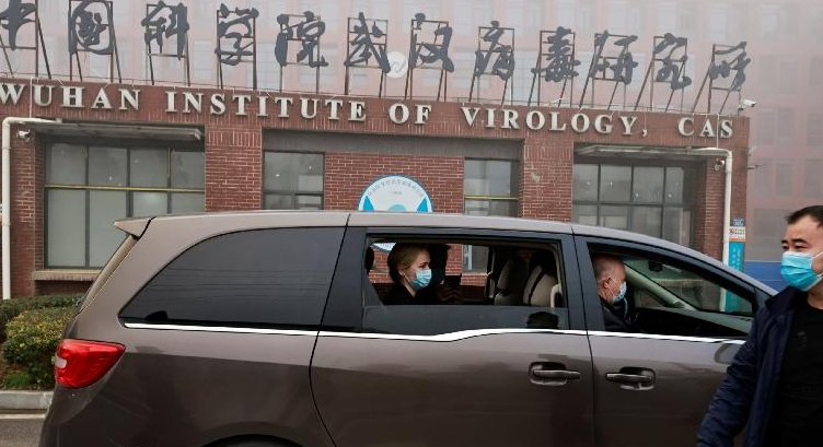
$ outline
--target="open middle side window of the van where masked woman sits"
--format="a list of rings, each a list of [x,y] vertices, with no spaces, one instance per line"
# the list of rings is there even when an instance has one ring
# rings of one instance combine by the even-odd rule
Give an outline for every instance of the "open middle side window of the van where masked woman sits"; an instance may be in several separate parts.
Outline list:
[[[373,262],[366,257],[364,332],[437,336],[569,328],[559,244],[422,238],[372,238],[369,244],[366,252],[371,248],[375,254]],[[392,262],[422,251],[422,269],[430,268],[432,279],[413,296],[405,284],[418,266],[398,274]],[[487,254],[484,262],[466,269],[465,254],[478,251]]]

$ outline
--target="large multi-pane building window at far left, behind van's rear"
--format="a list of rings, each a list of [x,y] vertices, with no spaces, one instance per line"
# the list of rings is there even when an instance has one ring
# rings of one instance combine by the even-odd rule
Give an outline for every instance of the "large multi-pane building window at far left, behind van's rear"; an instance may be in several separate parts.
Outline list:
[[[98,268],[118,219],[204,211],[202,150],[51,144],[46,150],[46,267]]]

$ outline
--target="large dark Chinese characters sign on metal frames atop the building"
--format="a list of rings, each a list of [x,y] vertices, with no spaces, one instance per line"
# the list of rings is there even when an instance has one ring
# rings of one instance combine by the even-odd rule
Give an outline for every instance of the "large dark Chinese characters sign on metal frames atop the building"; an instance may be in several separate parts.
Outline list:
[[[22,74],[11,61],[23,59],[34,61],[34,74],[38,73],[39,55],[46,61],[49,72],[48,57],[43,46],[43,33],[39,27],[39,5],[45,0],[0,0],[0,50],[4,58],[7,70],[10,74]],[[48,0],[60,3],[61,0]],[[204,58],[195,64],[196,77],[200,81],[207,81],[224,87],[224,72],[232,80],[242,80],[241,84],[251,83],[252,89],[257,89],[258,56],[265,66],[266,75],[279,70],[279,90],[283,90],[285,70],[300,70],[300,82],[304,79],[314,78],[314,90],[320,92],[321,73],[334,74],[339,68],[345,67],[345,94],[351,93],[351,86],[366,86],[371,90],[378,87],[378,96],[386,92],[386,78],[401,78],[405,75],[405,89],[401,84],[392,86],[394,92],[403,90],[405,98],[414,97],[414,91],[420,83],[425,87],[437,89],[437,98],[447,97],[450,77],[455,72],[457,64],[460,70],[465,70],[463,79],[459,79],[459,87],[465,89],[459,95],[468,101],[480,99],[480,96],[497,95],[502,92],[501,101],[509,98],[514,101],[514,92],[524,101],[528,96],[529,104],[533,102],[542,105],[544,96],[549,93],[553,104],[572,105],[572,101],[579,106],[594,105],[595,89],[608,87],[604,92],[598,92],[598,97],[607,98],[608,108],[615,103],[618,91],[623,94],[622,104],[630,104],[637,109],[641,101],[648,98],[648,107],[663,107],[669,110],[675,94],[681,96],[681,109],[683,92],[693,89],[694,80],[686,73],[689,61],[688,39],[684,36],[675,36],[671,33],[653,37],[651,50],[638,50],[637,35],[611,34],[602,31],[591,37],[576,34],[571,28],[557,26],[553,30],[538,30],[526,35],[525,39],[537,44],[536,55],[534,50],[518,49],[515,45],[517,30],[506,27],[497,20],[488,20],[477,26],[476,48],[455,47],[454,30],[448,21],[437,20],[424,12],[412,13],[404,17],[407,28],[402,28],[402,34],[408,30],[408,50],[395,48],[390,45],[398,45],[397,35],[393,35],[393,42],[389,39],[389,20],[374,17],[369,12],[355,10],[352,16],[347,17],[345,55],[337,58],[335,51],[338,47],[343,52],[343,45],[337,39],[340,36],[329,35],[327,23],[321,16],[318,10],[306,10],[300,13],[288,11],[270,11],[266,4],[265,11],[245,4],[234,4],[233,0],[220,2],[219,8],[211,10],[215,13],[215,22],[194,22],[192,15],[208,16],[209,11],[197,4],[197,12],[189,13],[189,5],[185,0],[154,0],[144,4],[144,13],[139,14],[128,23],[129,17],[118,22],[120,27],[124,22],[128,27],[140,26],[144,57],[148,62],[148,72],[152,84],[155,81],[155,58],[169,58],[163,67],[165,70],[179,69],[185,77],[185,83],[190,85],[189,74],[189,32],[195,27],[205,30],[213,36],[213,43],[197,42],[195,52],[206,50],[211,55],[213,48],[213,64],[204,62]],[[108,78],[109,81],[121,82],[120,55],[117,46],[115,30],[116,7],[130,7],[129,2],[112,0],[66,0],[68,3],[67,35],[61,46],[66,48],[70,61],[69,77],[73,79],[74,71],[83,80],[84,72],[97,78]],[[192,2],[189,2],[192,3]],[[254,4],[263,4],[257,2]],[[194,3],[192,3],[194,4]],[[142,7],[140,7],[142,8]],[[263,10],[263,7],[260,7]],[[123,11],[119,11],[123,12]],[[292,11],[297,12],[297,11]],[[270,15],[269,15],[270,14]],[[268,16],[262,16],[268,15]],[[473,14],[470,14],[473,15]],[[124,17],[123,14],[119,17]],[[489,17],[490,19],[490,17]],[[259,32],[258,21],[265,21]],[[461,21],[464,25],[464,21]],[[260,22],[264,23],[264,22]],[[274,25],[274,30],[269,27]],[[211,27],[213,26],[213,27]],[[333,30],[334,27],[332,27]],[[30,34],[31,33],[31,34]],[[531,33],[531,32],[530,32]],[[204,34],[202,31],[199,32]],[[335,34],[335,33],[332,33]],[[131,35],[131,34],[129,34]],[[34,37],[34,38],[32,38]],[[260,39],[262,42],[258,42]],[[592,50],[591,61],[581,62],[578,56],[578,46],[588,43]],[[520,34],[520,42],[523,40]],[[62,44],[65,42],[65,44]],[[327,43],[332,43],[331,45]],[[204,48],[206,44],[206,48]],[[260,51],[258,52],[258,44]],[[326,46],[324,46],[324,44]],[[464,43],[465,44],[465,43]],[[399,44],[405,45],[405,44]],[[470,44],[474,46],[473,44]],[[456,48],[456,50],[455,50]],[[534,48],[528,45],[526,48]],[[19,51],[35,51],[35,58],[23,58]],[[456,56],[452,55],[456,52]],[[639,52],[638,52],[639,51]],[[473,54],[472,54],[473,52]],[[636,55],[649,55],[648,63],[639,68],[640,63]],[[263,56],[260,56],[263,55]],[[517,57],[515,57],[517,55]],[[588,52],[587,52],[588,55]],[[138,58],[128,55],[126,60],[132,64]],[[640,56],[640,59],[646,59]],[[81,67],[81,61],[88,67]],[[101,63],[105,61],[105,63]],[[2,61],[0,61],[1,63]],[[266,66],[271,63],[273,66]],[[702,99],[705,91],[708,92],[709,107],[712,107],[712,94],[718,92],[717,104],[722,111],[729,96],[732,93],[740,94],[746,81],[746,69],[751,58],[746,54],[746,43],[737,45],[715,45],[711,52],[711,62],[705,71],[704,80],[695,99],[693,110]],[[526,67],[523,67],[526,64]],[[217,79],[215,70],[217,67]],[[297,67],[297,68],[295,68]],[[397,70],[394,68],[398,67]],[[107,72],[105,72],[107,69]],[[31,70],[31,69],[26,69]],[[324,71],[328,70],[328,71]],[[306,72],[309,75],[306,77]],[[116,77],[115,77],[116,74]],[[372,74],[375,74],[372,77]],[[247,78],[246,78],[247,75]],[[380,82],[369,82],[370,79]],[[531,78],[531,86],[528,85]],[[471,79],[471,83],[470,80]],[[639,84],[642,79],[639,93],[636,97],[626,98],[627,86],[633,82]],[[583,82],[581,93],[577,96],[575,82]],[[233,82],[235,86],[237,81]],[[265,81],[264,81],[265,82]],[[518,83],[517,85],[514,83]],[[268,82],[266,82],[268,84]],[[525,84],[525,85],[521,85]],[[707,87],[708,86],[708,87]],[[515,89],[519,87],[519,89]],[[480,90],[484,92],[480,92]],[[664,90],[661,106],[657,106],[654,96],[660,90]],[[656,92],[657,90],[657,92]],[[490,93],[490,94],[489,94]],[[587,95],[591,94],[589,98]],[[418,95],[420,95],[418,91]],[[610,96],[611,95],[611,96]],[[634,93],[633,93],[634,95]],[[427,95],[428,96],[428,95]],[[555,98],[555,99],[552,99]],[[579,101],[578,101],[579,99]],[[709,110],[710,111],[710,110]]]

